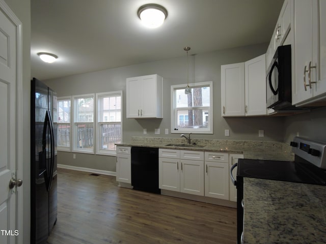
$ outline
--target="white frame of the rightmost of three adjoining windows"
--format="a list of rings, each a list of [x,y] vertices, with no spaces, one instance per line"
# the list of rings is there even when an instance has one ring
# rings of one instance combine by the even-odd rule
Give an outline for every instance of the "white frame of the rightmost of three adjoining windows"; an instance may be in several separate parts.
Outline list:
[[[121,121],[120,122],[111,122],[110,117],[107,118],[107,121],[99,121],[100,116],[100,105],[99,105],[99,99],[103,97],[121,97]],[[123,141],[123,92],[122,90],[118,90],[115,92],[106,92],[106,93],[97,93],[96,94],[96,117],[95,117],[95,131],[96,131],[96,154],[97,155],[110,155],[110,156],[116,156],[116,146],[114,150],[109,149],[101,149],[101,125],[117,125],[120,124],[121,126],[121,141]]]

